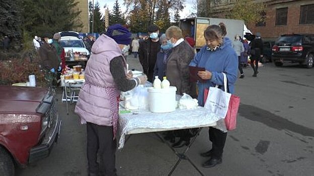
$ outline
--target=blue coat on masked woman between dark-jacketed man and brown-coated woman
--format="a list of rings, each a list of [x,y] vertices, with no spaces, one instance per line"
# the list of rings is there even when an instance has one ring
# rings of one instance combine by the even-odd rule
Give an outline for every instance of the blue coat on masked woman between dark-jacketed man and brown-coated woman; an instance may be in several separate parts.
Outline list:
[[[166,76],[166,63],[171,52],[172,49],[161,49],[160,52],[157,53],[157,59],[153,72],[153,80],[155,79],[155,76],[158,76],[160,80],[163,80],[163,77]]]

